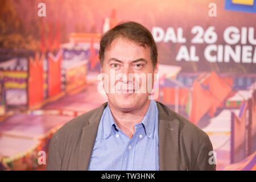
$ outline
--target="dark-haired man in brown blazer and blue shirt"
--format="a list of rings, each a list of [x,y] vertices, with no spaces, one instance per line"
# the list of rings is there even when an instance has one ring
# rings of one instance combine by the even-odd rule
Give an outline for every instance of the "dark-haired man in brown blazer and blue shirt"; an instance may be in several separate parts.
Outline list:
[[[157,57],[154,39],[141,24],[122,23],[102,36],[100,61],[108,102],[53,134],[47,170],[216,169],[208,135],[149,99]]]

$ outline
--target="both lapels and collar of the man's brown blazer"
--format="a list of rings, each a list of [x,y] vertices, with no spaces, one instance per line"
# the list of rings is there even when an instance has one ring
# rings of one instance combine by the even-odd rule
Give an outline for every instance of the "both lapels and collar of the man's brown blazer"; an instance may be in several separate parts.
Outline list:
[[[88,169],[90,157],[97,137],[98,125],[105,107],[105,102],[94,110],[88,123],[82,128],[81,143],[79,148],[79,158],[77,170],[85,171]],[[159,145],[159,169],[177,170],[178,169],[178,136],[179,121],[175,119],[174,112],[167,106],[157,102],[158,106],[158,145]]]

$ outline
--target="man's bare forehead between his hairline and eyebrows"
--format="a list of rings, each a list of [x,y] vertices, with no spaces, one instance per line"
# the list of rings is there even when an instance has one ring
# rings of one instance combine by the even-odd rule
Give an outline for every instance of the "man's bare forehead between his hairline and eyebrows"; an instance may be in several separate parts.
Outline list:
[[[105,51],[105,60],[110,58],[121,61],[133,61],[139,58],[150,60],[150,48],[128,39],[116,38]]]

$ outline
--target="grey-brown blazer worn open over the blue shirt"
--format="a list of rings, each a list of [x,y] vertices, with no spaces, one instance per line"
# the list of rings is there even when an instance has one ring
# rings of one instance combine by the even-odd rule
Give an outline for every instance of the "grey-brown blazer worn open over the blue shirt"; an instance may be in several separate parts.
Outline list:
[[[73,118],[52,135],[46,170],[87,170],[107,102]],[[160,170],[216,170],[212,143],[204,131],[157,102]],[[212,161],[212,160],[210,160]]]

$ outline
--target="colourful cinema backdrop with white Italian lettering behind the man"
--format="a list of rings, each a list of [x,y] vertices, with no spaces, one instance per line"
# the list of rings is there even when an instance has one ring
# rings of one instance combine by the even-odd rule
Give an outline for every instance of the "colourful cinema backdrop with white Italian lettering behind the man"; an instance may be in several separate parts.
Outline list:
[[[52,134],[107,101],[100,36],[133,20],[158,46],[155,100],[209,135],[218,170],[255,170],[255,13],[255,0],[0,1],[0,169],[44,170]]]

